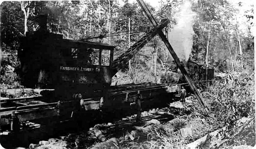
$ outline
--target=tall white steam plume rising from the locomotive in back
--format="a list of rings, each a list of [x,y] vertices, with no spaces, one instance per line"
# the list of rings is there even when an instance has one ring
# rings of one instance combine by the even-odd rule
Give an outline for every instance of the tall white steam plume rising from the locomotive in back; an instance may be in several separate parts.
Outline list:
[[[177,24],[168,32],[168,39],[181,61],[189,59],[193,45],[193,23],[195,13],[191,10],[191,3],[183,1],[180,9],[174,13]]]

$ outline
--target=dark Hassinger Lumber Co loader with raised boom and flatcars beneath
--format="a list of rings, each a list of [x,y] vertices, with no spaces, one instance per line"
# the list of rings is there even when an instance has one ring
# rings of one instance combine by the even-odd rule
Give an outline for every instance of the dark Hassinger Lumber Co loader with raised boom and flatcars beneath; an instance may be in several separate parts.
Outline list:
[[[111,115],[112,117],[134,113],[136,107],[131,103],[134,103],[138,93],[141,94],[142,109],[144,110],[159,108],[160,105],[166,106],[166,103],[174,97],[176,90],[167,91],[165,84],[142,83],[111,86],[111,79],[115,73],[167,26],[170,22],[168,19],[154,27],[116,60],[113,60],[115,46],[63,39],[61,34],[47,31],[46,16],[40,15],[38,22],[38,31],[27,32],[26,36],[21,38],[18,50],[20,65],[16,72],[18,72],[21,84],[25,87],[55,89],[55,96],[54,98],[43,96],[42,99],[40,97],[29,100],[1,99],[1,131],[18,131],[33,121],[39,126],[49,126],[45,127],[46,130],[49,128],[47,131],[40,131],[45,134],[49,133],[48,131],[55,131],[52,129],[53,124],[56,123],[57,127],[55,128],[57,129],[59,122],[64,123],[66,120],[72,119],[73,112],[79,111],[78,109],[85,110],[80,112],[83,115],[77,115],[75,112],[77,119],[86,121],[84,118],[108,115],[109,111],[112,113],[116,111],[114,115]],[[176,64],[174,63],[174,65]],[[193,65],[193,69],[199,71],[205,68],[200,68],[200,65],[196,64],[196,66]],[[213,76],[212,73],[209,74]],[[101,104],[103,106],[100,106]],[[104,112],[94,114],[93,110],[99,108]],[[117,112],[119,110],[122,112]],[[91,112],[91,114],[87,112]],[[72,125],[68,125],[68,127]],[[36,127],[38,128],[38,125]],[[23,132],[13,133],[6,140],[12,142],[12,139],[15,140],[15,138],[23,136]]]

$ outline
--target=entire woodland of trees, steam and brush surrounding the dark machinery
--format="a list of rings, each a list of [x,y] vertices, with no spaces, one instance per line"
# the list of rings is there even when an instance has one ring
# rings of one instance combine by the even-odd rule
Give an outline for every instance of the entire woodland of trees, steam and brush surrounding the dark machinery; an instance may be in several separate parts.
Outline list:
[[[214,68],[214,73],[221,76],[211,86],[195,83],[214,117],[210,120],[210,130],[200,131],[199,136],[228,125],[238,131],[229,133],[233,135],[232,139],[224,145],[219,143],[217,147],[254,146],[253,2],[166,0],[160,1],[158,7],[151,6],[147,0],[145,2],[158,23],[170,19],[163,31],[183,63],[188,60],[206,63],[207,68]],[[20,38],[27,32],[38,30],[39,15],[47,15],[49,32],[62,34],[65,39],[116,46],[114,59],[153,28],[139,4],[129,0],[3,1],[0,12],[1,88],[21,87],[16,74]],[[157,83],[163,70],[168,70],[172,62],[167,47],[156,35],[112,78],[112,83]],[[205,114],[200,106],[191,110]],[[248,118],[249,122],[238,123],[242,117]],[[168,142],[159,136],[157,138],[162,139],[158,145]],[[185,142],[192,140],[196,138]],[[175,142],[178,141],[174,139]]]

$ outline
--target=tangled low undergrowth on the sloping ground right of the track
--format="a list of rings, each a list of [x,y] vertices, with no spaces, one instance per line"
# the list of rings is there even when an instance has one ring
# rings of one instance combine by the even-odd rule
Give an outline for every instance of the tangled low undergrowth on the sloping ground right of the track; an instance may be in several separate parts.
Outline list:
[[[155,127],[148,133],[148,140],[145,142],[133,142],[122,148],[184,148],[188,143],[224,126],[227,126],[226,135],[229,136],[227,139],[229,141],[223,143],[221,148],[234,145],[254,146],[254,73],[227,72],[224,78],[215,80],[212,84],[197,84],[197,88],[203,96],[204,103],[209,107],[209,112],[201,108],[195,96],[192,95],[189,100],[193,104],[187,106],[187,109],[192,112],[190,115],[163,124],[161,127]],[[238,123],[242,118],[252,120],[246,125]],[[182,137],[179,130],[184,127],[191,128],[193,135]],[[238,129],[239,133],[236,132]]]

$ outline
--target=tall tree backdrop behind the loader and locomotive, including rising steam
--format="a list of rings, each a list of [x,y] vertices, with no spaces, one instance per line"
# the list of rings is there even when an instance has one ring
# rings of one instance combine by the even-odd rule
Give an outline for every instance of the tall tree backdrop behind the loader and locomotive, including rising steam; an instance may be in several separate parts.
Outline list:
[[[254,12],[250,2],[168,0],[159,3],[157,9],[150,4],[148,7],[159,22],[170,19],[164,30],[182,61],[206,63],[216,72],[253,70]],[[17,63],[15,55],[9,54],[17,53],[19,38],[26,32],[38,30],[39,14],[48,15],[48,31],[64,38],[116,46],[114,59],[153,28],[136,2],[5,1],[1,4],[1,84],[17,83],[15,74],[5,75]],[[156,36],[129,61],[120,76],[135,83],[156,81],[161,69],[170,67],[172,60],[161,38]]]

